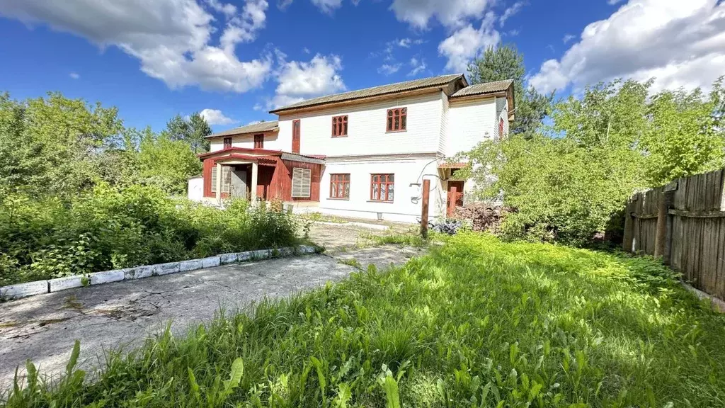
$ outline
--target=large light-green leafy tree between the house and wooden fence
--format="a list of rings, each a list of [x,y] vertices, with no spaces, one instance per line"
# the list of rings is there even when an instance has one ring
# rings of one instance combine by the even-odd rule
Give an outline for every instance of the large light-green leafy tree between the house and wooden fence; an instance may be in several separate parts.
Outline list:
[[[473,177],[479,197],[515,209],[505,218],[508,235],[587,242],[635,189],[725,166],[722,81],[709,95],[652,95],[653,81],[589,86],[558,103],[552,126],[530,139],[479,144],[463,176]]]

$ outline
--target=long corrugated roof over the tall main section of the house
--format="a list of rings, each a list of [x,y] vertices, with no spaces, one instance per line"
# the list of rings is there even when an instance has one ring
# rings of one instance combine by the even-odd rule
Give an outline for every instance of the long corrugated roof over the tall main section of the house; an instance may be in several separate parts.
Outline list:
[[[463,74],[457,73],[452,75],[434,76],[431,78],[414,79],[413,81],[405,81],[399,83],[389,83],[388,85],[373,86],[372,88],[360,89],[357,91],[343,92],[341,94],[327,95],[325,97],[318,97],[307,99],[302,102],[297,102],[292,105],[279,107],[275,110],[270,110],[270,113],[278,113],[283,110],[297,109],[300,107],[310,107],[315,105],[326,105],[333,102],[344,102],[352,99],[362,99],[367,97],[377,97],[385,94],[395,94],[402,91],[412,91],[414,89],[433,88],[434,86],[443,86],[451,81],[455,81],[458,78],[464,78]]]

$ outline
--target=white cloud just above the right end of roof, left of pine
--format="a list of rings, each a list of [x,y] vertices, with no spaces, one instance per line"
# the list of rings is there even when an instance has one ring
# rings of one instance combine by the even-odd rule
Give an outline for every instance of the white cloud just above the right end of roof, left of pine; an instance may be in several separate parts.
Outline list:
[[[468,70],[468,63],[489,46],[496,46],[501,39],[500,33],[494,29],[496,17],[492,12],[486,13],[481,21],[481,28],[476,30],[468,24],[456,30],[438,45],[439,54],[447,57],[445,69],[456,73]]]

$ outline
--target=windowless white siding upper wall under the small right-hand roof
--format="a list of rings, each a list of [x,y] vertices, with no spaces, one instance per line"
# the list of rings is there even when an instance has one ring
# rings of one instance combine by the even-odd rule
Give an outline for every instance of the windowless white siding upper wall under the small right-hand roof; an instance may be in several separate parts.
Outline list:
[[[498,134],[494,98],[451,102],[448,110],[448,141],[445,155],[471,150],[484,139]]]

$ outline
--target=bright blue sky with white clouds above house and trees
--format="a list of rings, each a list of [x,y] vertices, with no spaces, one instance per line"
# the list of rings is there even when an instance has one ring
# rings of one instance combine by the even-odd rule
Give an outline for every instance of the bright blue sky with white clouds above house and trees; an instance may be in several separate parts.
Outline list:
[[[655,89],[725,73],[717,0],[0,0],[0,90],[61,91],[161,130],[221,130],[300,99],[459,72],[513,42],[529,83],[568,94],[617,77]]]

